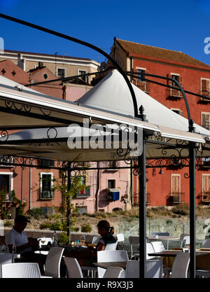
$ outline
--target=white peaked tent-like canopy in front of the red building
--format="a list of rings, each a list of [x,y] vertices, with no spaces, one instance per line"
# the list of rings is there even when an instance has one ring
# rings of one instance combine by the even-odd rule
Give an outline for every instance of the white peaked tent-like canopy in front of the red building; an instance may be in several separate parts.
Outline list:
[[[162,137],[173,137],[173,133],[169,128],[174,129],[174,137],[179,137],[179,131],[188,131],[188,120],[186,118],[160,104],[160,102],[147,95],[134,84],[132,84],[132,87],[137,97],[138,107],[144,106],[146,120],[160,127]],[[78,103],[83,106],[92,106],[126,116],[134,116],[134,106],[130,90],[125,79],[116,69],[97,83],[92,90],[86,92],[83,97],[78,99]],[[194,126],[197,134],[210,138],[209,130],[197,124]],[[181,134],[180,132],[180,136],[182,135],[183,133]],[[182,137],[182,139],[185,138]]]

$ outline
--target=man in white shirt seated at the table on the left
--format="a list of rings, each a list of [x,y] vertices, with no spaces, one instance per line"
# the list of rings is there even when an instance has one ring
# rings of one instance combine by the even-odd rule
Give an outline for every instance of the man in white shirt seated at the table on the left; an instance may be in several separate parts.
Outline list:
[[[21,257],[26,258],[30,262],[38,263],[41,274],[44,274],[43,265],[46,256],[43,254],[34,253],[38,249],[37,239],[28,239],[25,230],[27,223],[30,222],[26,216],[18,215],[15,217],[13,228],[6,234],[5,242],[10,253],[13,253],[13,244],[16,246],[16,252],[21,254]]]

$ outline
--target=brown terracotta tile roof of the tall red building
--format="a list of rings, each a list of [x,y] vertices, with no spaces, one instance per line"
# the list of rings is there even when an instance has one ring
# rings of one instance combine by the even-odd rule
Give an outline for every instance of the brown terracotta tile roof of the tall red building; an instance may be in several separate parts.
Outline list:
[[[176,50],[167,50],[165,48],[143,45],[141,43],[134,43],[132,41],[123,41],[121,39],[117,39],[117,41],[127,53],[145,55],[147,57],[155,57],[157,59],[165,59],[171,62],[193,64],[197,66],[208,67],[210,69],[209,65]]]

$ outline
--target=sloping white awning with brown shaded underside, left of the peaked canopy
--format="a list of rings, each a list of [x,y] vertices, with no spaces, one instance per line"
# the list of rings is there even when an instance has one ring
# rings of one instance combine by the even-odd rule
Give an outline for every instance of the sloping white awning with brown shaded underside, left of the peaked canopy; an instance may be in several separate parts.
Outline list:
[[[138,118],[78,106],[74,102],[43,95],[3,76],[0,76],[0,112],[1,130],[68,126],[71,123],[83,123],[87,118],[91,123],[125,123],[160,132],[157,125],[142,122]]]

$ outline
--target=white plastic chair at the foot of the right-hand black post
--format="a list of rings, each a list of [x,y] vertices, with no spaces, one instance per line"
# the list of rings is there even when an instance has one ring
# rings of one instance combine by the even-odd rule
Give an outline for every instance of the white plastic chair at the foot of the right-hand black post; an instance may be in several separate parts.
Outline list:
[[[172,278],[187,278],[190,253],[177,253],[172,265]]]

